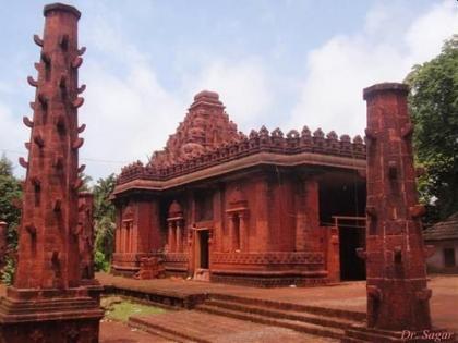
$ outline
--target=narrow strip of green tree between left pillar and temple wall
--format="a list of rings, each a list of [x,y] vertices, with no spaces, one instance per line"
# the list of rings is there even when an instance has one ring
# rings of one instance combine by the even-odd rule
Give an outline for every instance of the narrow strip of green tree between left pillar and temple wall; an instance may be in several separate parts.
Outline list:
[[[93,187],[94,221],[95,221],[95,254],[101,253],[106,261],[111,260],[114,243],[114,205],[109,197],[116,186],[116,175],[97,180]],[[100,259],[100,254],[96,255]]]

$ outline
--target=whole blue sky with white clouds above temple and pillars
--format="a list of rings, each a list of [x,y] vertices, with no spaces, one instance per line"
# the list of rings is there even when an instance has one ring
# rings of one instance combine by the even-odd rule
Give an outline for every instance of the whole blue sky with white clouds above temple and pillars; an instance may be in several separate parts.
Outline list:
[[[44,1],[9,1],[0,21],[0,150],[25,156]],[[83,13],[87,84],[81,150],[97,179],[146,161],[184,118],[193,95],[218,91],[239,130],[365,126],[362,88],[400,82],[458,33],[444,1],[69,1]],[[23,171],[17,167],[19,175]]]

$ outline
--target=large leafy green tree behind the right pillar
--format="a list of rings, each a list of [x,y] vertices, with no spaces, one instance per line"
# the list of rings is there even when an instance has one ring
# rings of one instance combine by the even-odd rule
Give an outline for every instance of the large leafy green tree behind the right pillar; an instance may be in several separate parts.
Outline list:
[[[444,219],[458,211],[458,35],[436,58],[413,66],[406,82],[415,159],[426,170],[419,180],[421,198],[430,219]]]

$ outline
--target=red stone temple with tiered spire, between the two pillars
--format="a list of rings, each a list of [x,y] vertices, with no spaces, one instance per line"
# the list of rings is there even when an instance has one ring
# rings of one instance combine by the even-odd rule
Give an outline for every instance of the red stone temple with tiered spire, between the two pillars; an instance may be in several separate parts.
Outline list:
[[[158,257],[166,274],[258,286],[365,278],[360,136],[238,132],[201,91],[167,146],[122,169],[112,272]],[[143,274],[142,270],[142,274]]]

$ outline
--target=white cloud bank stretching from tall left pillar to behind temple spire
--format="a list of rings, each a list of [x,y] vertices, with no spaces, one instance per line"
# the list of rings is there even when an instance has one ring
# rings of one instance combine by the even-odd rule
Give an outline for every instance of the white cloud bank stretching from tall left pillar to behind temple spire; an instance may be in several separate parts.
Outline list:
[[[146,161],[153,150],[165,146],[202,89],[218,91],[237,123],[248,123],[267,109],[270,97],[265,72],[254,58],[230,63],[206,54],[205,66],[196,72],[181,70],[181,84],[170,90],[158,79],[148,56],[116,23],[101,16],[92,23],[96,25],[88,27],[87,45],[97,50],[97,58],[88,54],[82,69],[81,78],[88,85],[80,111],[80,121],[87,124],[83,162],[84,158]],[[87,161],[87,173],[98,177],[119,172],[122,164]]]

